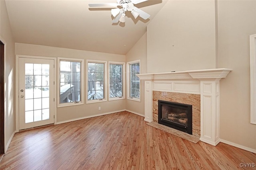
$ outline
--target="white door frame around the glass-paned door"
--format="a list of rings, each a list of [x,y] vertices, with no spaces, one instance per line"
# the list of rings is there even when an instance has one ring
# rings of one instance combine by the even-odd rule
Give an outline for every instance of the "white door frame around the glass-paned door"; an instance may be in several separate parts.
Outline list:
[[[28,56],[28,55],[16,55],[16,66],[15,66],[15,130],[19,132],[19,59],[20,58],[34,58],[34,59],[51,59],[54,60],[54,125],[57,122],[57,58],[54,57],[39,57],[39,56]]]

